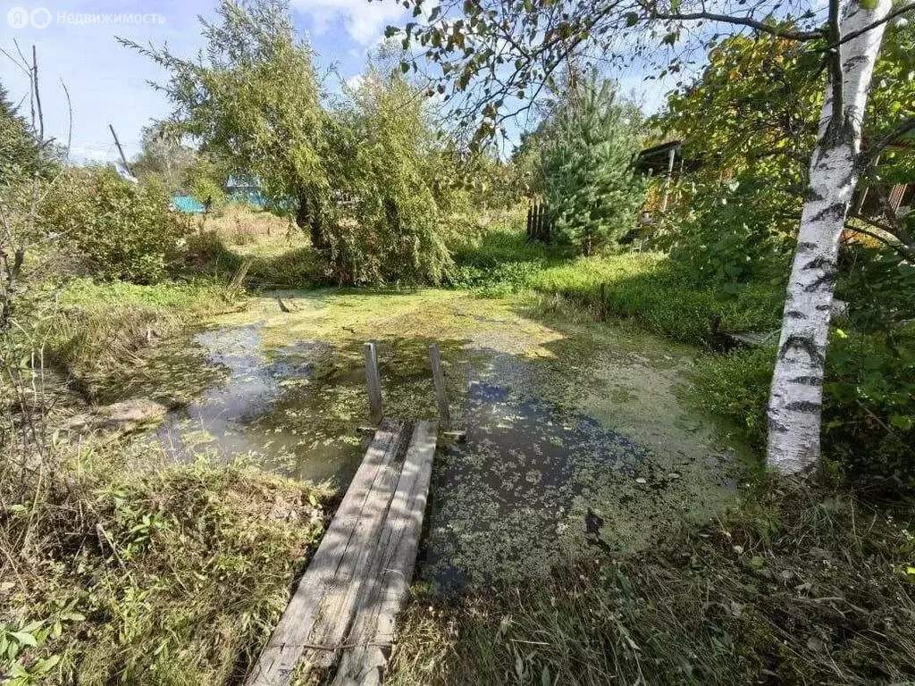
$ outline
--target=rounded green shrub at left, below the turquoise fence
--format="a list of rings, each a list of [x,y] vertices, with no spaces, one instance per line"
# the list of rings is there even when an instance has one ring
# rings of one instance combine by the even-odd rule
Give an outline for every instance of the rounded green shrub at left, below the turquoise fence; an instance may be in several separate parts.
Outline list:
[[[41,215],[94,275],[152,284],[176,263],[188,232],[187,220],[168,203],[155,180],[133,185],[112,169],[70,169],[45,198]]]

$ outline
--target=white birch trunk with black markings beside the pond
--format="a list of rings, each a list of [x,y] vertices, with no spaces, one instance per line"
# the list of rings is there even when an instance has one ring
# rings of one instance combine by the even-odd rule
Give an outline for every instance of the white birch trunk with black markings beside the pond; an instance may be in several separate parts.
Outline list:
[[[890,0],[877,0],[865,8],[851,0],[840,34],[847,36],[884,18],[890,5]],[[880,24],[840,46],[841,112],[833,112],[833,83],[826,84],[770,391],[767,462],[783,474],[802,471],[820,457],[823,363],[836,259],[859,176],[861,123],[885,28],[886,23]]]

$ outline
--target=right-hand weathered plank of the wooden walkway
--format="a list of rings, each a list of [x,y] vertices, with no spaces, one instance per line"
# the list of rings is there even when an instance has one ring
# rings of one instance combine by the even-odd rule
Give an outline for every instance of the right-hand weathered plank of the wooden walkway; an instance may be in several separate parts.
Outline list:
[[[343,651],[335,686],[374,686],[382,682],[391,652],[394,623],[413,578],[436,452],[436,434],[436,423],[416,423],[397,492],[374,552],[367,593],[356,610],[346,641],[353,647]]]

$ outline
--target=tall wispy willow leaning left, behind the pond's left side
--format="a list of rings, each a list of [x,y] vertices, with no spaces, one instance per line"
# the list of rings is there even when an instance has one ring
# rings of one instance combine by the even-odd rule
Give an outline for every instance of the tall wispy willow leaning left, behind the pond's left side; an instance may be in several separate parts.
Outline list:
[[[200,19],[205,46],[197,59],[121,42],[169,72],[166,84],[154,86],[175,106],[170,132],[256,181],[274,209],[294,209],[296,223],[322,246],[328,182],[314,53],[282,0],[221,0],[216,17]]]

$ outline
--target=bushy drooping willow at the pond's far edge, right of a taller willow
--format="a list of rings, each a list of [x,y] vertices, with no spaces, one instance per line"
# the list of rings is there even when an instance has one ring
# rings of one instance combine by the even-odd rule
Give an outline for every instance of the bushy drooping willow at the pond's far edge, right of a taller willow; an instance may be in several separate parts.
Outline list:
[[[452,266],[445,237],[461,194],[448,177],[424,99],[371,67],[338,113],[334,179],[348,198],[324,229],[341,284],[438,284]]]

